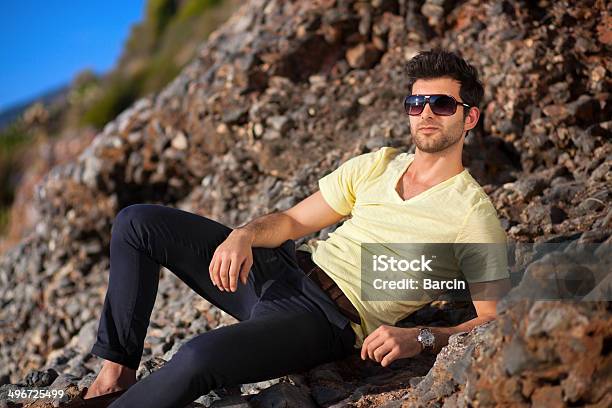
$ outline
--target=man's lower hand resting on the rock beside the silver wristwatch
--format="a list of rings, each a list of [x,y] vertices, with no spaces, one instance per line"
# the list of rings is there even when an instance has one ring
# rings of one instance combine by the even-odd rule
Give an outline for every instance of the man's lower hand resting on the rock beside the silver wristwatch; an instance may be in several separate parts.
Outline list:
[[[414,357],[421,353],[421,343],[417,341],[419,329],[382,325],[363,341],[361,359],[370,358],[387,367],[400,358]]]

